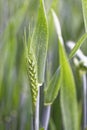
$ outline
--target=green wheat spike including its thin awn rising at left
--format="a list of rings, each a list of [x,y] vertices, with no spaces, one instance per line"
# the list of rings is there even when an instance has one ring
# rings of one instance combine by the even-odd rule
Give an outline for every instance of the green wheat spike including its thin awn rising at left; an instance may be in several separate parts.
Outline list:
[[[30,49],[27,47],[26,29],[24,30],[24,48],[26,57],[26,69],[32,97],[32,107],[35,110],[38,95],[37,71],[35,58],[33,57],[32,53],[30,53]]]

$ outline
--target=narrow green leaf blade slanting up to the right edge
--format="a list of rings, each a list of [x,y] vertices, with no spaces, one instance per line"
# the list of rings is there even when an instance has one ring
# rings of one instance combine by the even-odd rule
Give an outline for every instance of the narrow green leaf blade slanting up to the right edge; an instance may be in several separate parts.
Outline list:
[[[87,33],[85,33],[80,40],[75,44],[75,46],[73,47],[73,49],[70,52],[69,58],[71,59],[75,53],[77,52],[77,50],[80,48],[80,46],[82,45],[82,43],[86,40],[87,38]]]

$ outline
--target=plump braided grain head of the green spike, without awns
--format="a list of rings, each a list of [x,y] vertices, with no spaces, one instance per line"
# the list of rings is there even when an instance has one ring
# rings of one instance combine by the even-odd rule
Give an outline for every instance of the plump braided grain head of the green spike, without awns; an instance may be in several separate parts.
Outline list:
[[[27,58],[27,73],[28,73],[28,78],[29,78],[29,83],[30,83],[33,108],[35,108],[37,95],[38,95],[38,82],[37,82],[35,62],[31,53],[29,53],[28,58]]]

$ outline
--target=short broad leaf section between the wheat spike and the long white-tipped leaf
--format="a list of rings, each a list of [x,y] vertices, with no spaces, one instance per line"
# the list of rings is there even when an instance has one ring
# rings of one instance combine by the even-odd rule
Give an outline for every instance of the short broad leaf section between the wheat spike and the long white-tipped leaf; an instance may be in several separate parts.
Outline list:
[[[58,95],[60,88],[60,68],[57,69],[48,86],[45,89],[45,105],[52,104]]]

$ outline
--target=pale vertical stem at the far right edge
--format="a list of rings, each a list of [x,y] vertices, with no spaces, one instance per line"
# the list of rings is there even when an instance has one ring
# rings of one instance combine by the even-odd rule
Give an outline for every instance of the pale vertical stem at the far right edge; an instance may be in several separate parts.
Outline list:
[[[84,130],[87,129],[87,77],[83,75]]]

